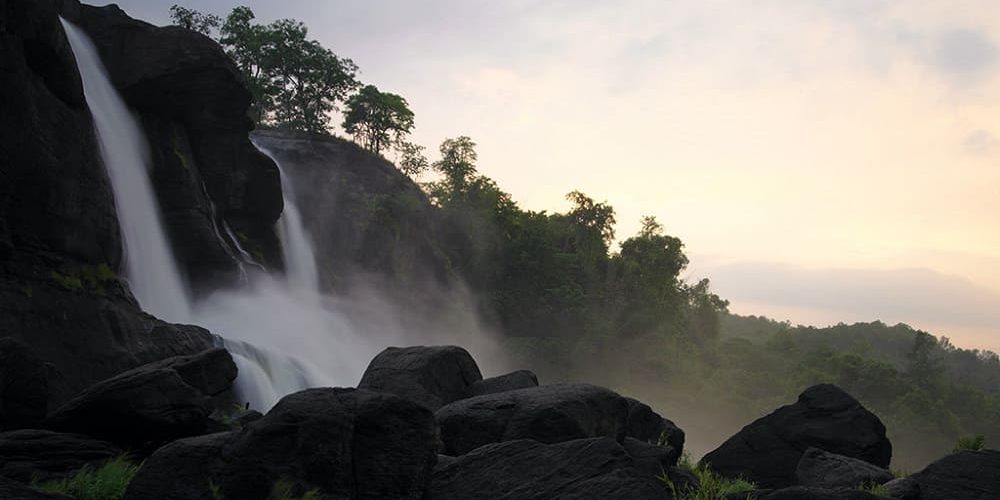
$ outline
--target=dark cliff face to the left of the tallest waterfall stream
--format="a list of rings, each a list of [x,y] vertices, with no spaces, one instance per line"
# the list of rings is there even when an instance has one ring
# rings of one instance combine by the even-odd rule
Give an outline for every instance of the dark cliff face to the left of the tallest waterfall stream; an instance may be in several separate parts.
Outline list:
[[[199,352],[196,327],[143,313],[76,61],[71,0],[0,0],[0,337],[47,363],[49,407],[143,363]]]

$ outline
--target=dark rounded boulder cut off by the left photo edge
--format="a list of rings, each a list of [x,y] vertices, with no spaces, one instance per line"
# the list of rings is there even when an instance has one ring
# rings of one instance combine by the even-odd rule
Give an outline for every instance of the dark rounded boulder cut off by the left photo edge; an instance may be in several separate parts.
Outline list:
[[[45,363],[17,340],[0,338],[0,430],[34,426],[48,399]]]

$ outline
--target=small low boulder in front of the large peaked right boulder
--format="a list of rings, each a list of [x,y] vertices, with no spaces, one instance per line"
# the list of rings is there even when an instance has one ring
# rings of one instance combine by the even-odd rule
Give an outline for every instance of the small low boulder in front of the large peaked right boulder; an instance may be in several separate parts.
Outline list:
[[[886,469],[819,448],[809,448],[802,454],[795,477],[802,486],[816,488],[857,488],[893,479]]]

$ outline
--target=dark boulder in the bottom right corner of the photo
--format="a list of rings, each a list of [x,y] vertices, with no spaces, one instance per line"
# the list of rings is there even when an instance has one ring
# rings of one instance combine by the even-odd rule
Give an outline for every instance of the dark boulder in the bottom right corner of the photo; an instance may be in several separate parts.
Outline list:
[[[960,451],[910,476],[920,500],[1000,498],[1000,451]]]

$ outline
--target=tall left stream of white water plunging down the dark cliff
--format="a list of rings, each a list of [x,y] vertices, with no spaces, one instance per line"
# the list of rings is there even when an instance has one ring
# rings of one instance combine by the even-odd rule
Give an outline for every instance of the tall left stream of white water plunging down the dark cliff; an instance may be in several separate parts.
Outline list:
[[[114,191],[125,250],[125,278],[144,310],[168,321],[189,321],[190,301],[160,221],[147,173],[149,153],[142,129],[111,84],[90,38],[65,19],[60,20],[76,56],[101,158]]]

